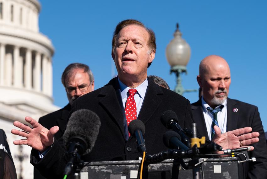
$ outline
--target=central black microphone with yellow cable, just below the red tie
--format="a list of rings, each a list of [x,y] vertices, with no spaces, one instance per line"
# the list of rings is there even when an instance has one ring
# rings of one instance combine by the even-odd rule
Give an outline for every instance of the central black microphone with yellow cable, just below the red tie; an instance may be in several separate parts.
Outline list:
[[[138,119],[133,120],[129,123],[128,126],[129,133],[136,138],[136,142],[138,144],[138,151],[143,155],[146,152],[144,137],[143,134],[145,132],[144,123]]]

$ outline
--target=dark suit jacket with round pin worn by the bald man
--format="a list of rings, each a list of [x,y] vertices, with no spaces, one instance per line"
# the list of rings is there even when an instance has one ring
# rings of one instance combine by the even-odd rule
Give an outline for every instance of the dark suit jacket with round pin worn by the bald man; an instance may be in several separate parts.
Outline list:
[[[201,99],[193,103],[191,108],[193,121],[197,123],[198,134],[208,138]],[[234,112],[234,108],[237,108],[238,111]],[[245,165],[245,176],[247,178],[267,178],[267,146],[258,107],[227,98],[226,131],[232,131],[242,127],[252,127],[253,132],[259,132],[260,134],[259,142],[252,144],[254,150],[248,152],[249,157],[255,157],[257,161]]]

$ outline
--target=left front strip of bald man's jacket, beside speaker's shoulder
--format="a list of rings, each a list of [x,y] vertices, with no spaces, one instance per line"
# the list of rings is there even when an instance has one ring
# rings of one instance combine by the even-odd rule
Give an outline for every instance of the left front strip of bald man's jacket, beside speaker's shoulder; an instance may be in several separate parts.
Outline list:
[[[209,138],[208,131],[203,116],[201,99],[191,105],[193,113],[193,122],[197,124],[198,134]]]

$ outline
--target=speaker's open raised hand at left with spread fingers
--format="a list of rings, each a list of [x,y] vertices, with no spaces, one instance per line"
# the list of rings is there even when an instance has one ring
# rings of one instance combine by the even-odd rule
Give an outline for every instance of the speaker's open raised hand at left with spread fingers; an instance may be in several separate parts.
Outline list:
[[[12,129],[11,133],[25,137],[26,139],[15,140],[13,143],[15,145],[29,145],[33,149],[36,149],[40,152],[44,151],[48,146],[53,144],[54,135],[59,130],[58,126],[52,127],[50,130],[43,127],[39,122],[33,118],[27,116],[25,121],[30,123],[33,128],[15,121],[14,126],[19,127],[22,131],[17,129]]]

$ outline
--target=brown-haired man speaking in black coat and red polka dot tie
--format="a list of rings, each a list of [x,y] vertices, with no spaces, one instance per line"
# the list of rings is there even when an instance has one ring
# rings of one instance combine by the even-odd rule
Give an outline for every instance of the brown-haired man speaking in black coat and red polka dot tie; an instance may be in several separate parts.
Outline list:
[[[147,78],[147,68],[154,60],[155,52],[155,34],[144,24],[133,19],[117,24],[112,39],[112,58],[118,77],[104,87],[79,97],[74,101],[71,111],[72,113],[79,109],[89,109],[95,112],[101,121],[95,146],[90,154],[83,156],[84,161],[137,159],[140,154],[136,139],[129,136],[128,132],[128,124],[132,120],[141,120],[145,124],[144,138],[148,154],[166,149],[162,136],[167,129],[160,121],[164,111],[174,111],[181,127],[191,127],[192,113],[189,101]],[[66,165],[63,156],[65,150],[53,138],[58,127],[48,130],[31,117],[25,117],[25,120],[34,128],[14,122],[16,127],[28,132],[13,129],[13,134],[26,137],[25,140],[14,141],[14,144],[27,144],[33,148],[31,163],[41,173],[62,176]],[[257,133],[245,133],[247,131],[241,133],[244,134],[244,138],[249,139],[251,143],[257,142]],[[227,141],[227,137],[223,140]],[[38,151],[45,151],[42,159],[39,158]],[[49,173],[46,172],[48,170]]]

